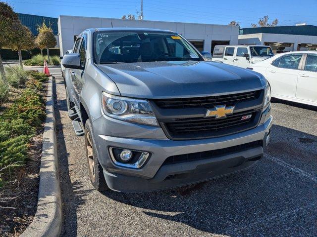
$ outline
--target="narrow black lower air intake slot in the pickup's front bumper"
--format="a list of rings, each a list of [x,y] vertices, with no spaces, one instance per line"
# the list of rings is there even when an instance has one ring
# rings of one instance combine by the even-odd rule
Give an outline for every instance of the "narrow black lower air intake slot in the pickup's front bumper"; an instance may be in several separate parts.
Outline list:
[[[171,156],[165,159],[165,161],[163,162],[163,165],[190,162],[190,161],[201,160],[201,159],[216,158],[216,157],[220,157],[227,154],[245,151],[247,149],[251,149],[251,148],[255,148],[259,146],[262,146],[262,140],[245,143],[238,146],[212,150],[212,151],[196,152],[196,153],[190,153],[190,154]]]

